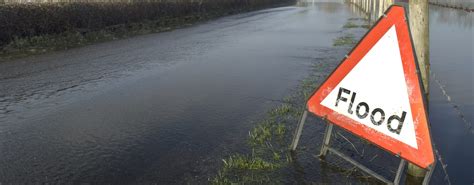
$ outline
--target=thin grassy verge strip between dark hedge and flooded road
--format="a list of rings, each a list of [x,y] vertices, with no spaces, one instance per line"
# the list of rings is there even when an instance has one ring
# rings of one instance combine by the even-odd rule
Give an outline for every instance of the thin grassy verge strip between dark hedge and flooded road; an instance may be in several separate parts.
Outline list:
[[[137,35],[158,33],[231,14],[249,12],[262,8],[278,7],[294,3],[278,1],[267,5],[243,6],[239,9],[196,12],[187,16],[161,16],[159,20],[143,20],[134,23],[117,24],[100,29],[71,29],[59,34],[14,37],[7,44],[0,45],[0,62],[50,51],[65,50],[99,42],[112,41]],[[100,21],[99,21],[100,22]]]

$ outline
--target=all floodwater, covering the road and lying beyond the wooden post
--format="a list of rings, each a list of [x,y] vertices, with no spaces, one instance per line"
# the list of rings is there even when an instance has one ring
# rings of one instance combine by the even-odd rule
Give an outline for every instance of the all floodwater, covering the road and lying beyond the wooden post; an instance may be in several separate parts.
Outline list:
[[[0,62],[0,182],[206,184],[311,66],[321,78],[337,66],[350,48],[333,39],[360,38],[366,29],[342,29],[360,16],[306,3]],[[472,13],[430,7],[430,39],[432,137],[447,165],[432,182],[472,184]],[[283,182],[377,182],[315,159],[324,122],[307,122]],[[362,145],[338,147],[393,175],[398,159]]]

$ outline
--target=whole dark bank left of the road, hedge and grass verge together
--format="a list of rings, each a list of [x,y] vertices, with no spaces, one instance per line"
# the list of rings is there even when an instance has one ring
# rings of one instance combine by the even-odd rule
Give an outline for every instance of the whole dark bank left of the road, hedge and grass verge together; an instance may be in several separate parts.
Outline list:
[[[290,3],[293,0],[0,4],[0,60],[168,31]]]

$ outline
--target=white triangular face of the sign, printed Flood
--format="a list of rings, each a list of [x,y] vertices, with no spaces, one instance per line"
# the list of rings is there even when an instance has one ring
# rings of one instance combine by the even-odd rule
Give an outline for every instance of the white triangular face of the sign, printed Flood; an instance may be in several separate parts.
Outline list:
[[[404,74],[393,25],[321,105],[418,149]]]

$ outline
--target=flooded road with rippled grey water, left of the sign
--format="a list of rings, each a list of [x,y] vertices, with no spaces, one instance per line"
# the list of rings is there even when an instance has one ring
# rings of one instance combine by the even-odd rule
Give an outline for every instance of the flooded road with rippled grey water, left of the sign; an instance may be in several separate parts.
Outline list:
[[[0,182],[207,183],[350,16],[274,8],[2,62]]]

